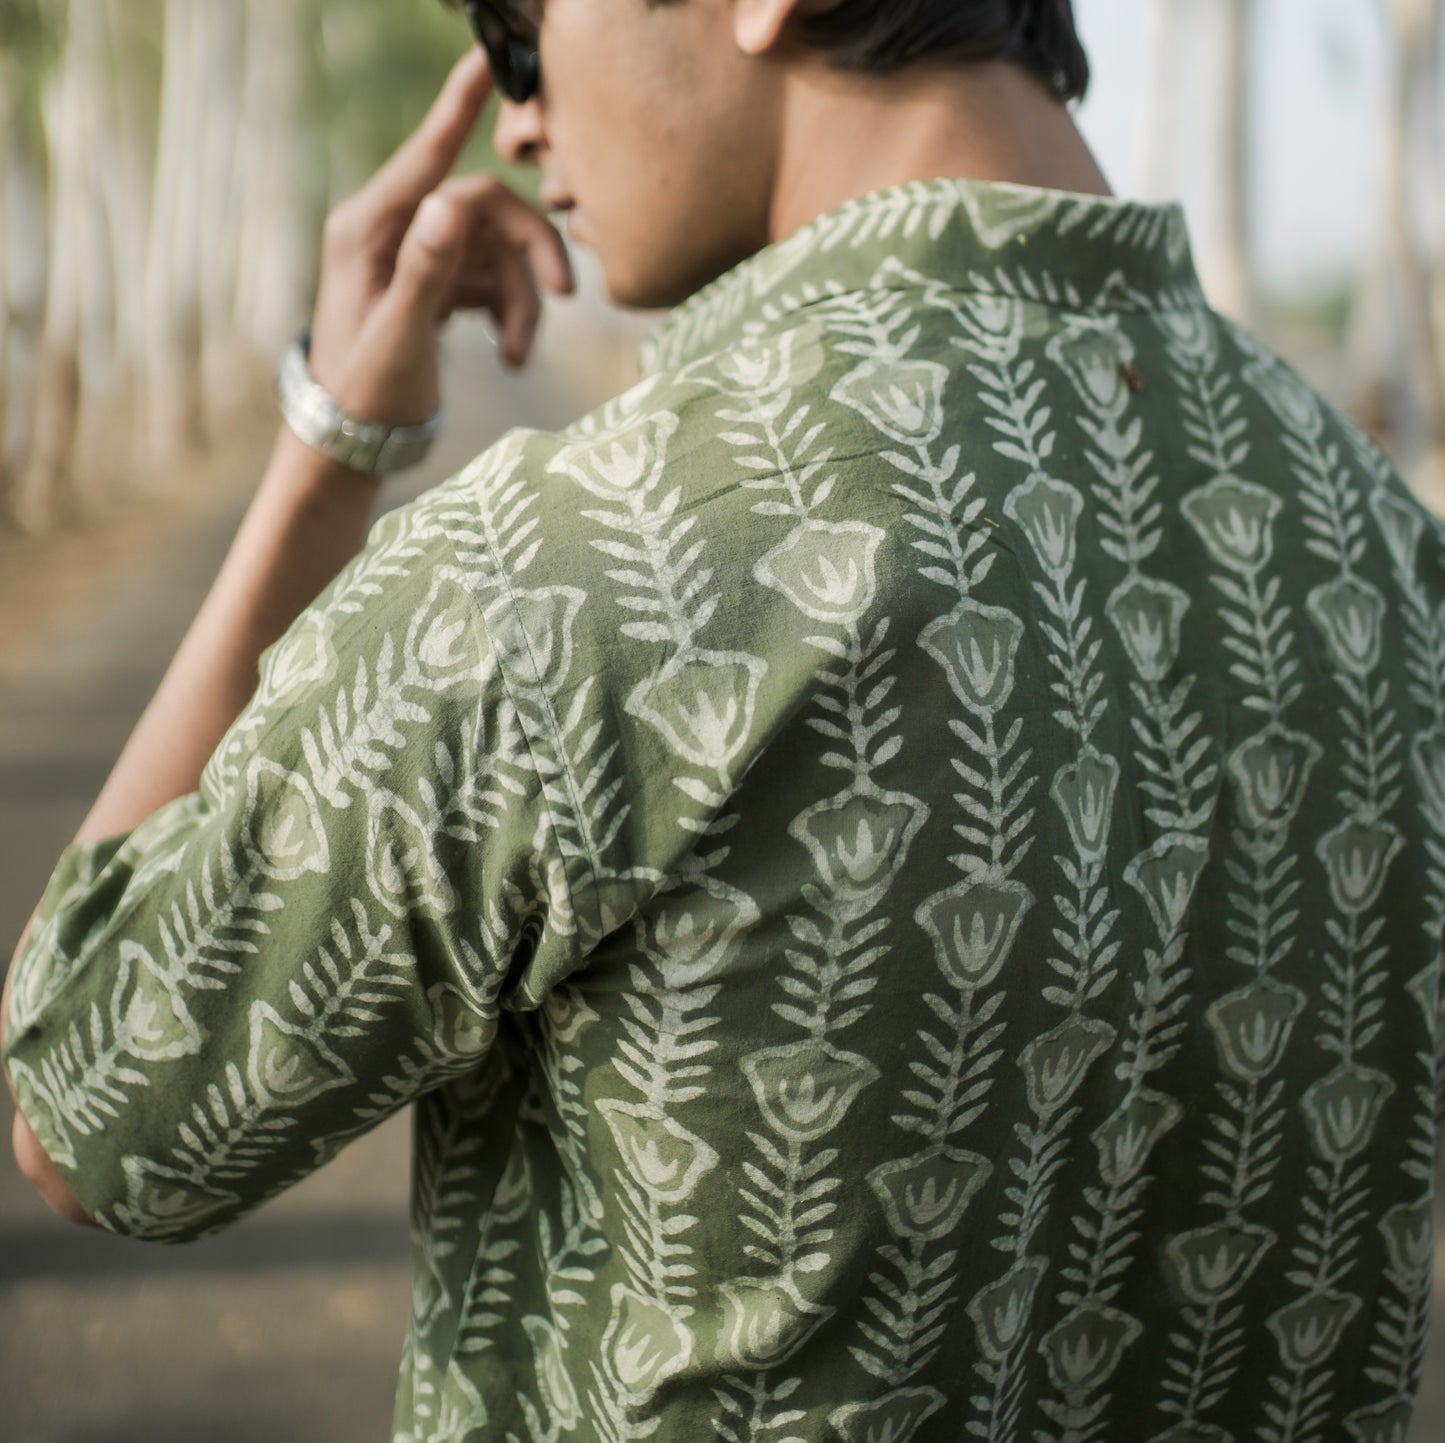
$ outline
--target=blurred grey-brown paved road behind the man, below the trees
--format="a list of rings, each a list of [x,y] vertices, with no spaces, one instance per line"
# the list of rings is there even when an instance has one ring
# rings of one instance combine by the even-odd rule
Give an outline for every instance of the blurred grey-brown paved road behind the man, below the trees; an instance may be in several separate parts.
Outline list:
[[[462,371],[452,396],[465,423],[434,471],[506,420],[575,410],[556,373],[481,386],[474,363]],[[211,506],[155,537],[105,579],[101,605],[0,654],[0,937],[19,930],[149,698],[237,510]],[[7,1111],[0,1127],[9,1135]],[[65,1228],[0,1166],[0,1436],[380,1443],[407,1310],[406,1157],[399,1121],[263,1215],[182,1249]],[[1445,1440],[1445,1361],[1429,1377],[1410,1443]]]

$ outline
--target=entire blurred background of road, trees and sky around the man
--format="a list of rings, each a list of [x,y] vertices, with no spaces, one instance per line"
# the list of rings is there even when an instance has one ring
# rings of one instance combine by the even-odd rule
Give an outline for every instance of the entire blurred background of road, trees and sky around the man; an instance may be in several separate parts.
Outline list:
[[[1116,189],[1182,199],[1215,305],[1445,513],[1445,0],[1075,10],[1095,75],[1079,120]],[[322,217],[467,43],[436,0],[0,0],[0,939],[254,484]],[[467,165],[494,163],[488,130]],[[577,260],[526,373],[501,371],[484,324],[452,328],[447,438],[393,503],[627,384],[650,322]],[[178,1251],[68,1231],[0,1164],[0,1434],[384,1439],[406,1156],[399,1121]],[[1438,1346],[1410,1443],[1441,1439]]]

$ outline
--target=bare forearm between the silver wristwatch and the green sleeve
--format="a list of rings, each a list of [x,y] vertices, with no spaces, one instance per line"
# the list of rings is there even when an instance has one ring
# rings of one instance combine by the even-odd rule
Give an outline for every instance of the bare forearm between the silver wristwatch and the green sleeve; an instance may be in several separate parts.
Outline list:
[[[130,831],[197,789],[256,690],[262,651],[360,550],[377,490],[374,478],[280,433],[225,562],[78,842]]]

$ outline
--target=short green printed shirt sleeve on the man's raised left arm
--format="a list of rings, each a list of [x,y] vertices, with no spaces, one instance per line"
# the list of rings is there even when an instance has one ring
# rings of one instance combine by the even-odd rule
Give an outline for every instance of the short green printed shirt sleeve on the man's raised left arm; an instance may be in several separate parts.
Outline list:
[[[526,737],[445,506],[386,517],[263,657],[201,789],[72,846],[4,1066],[87,1212],[218,1231],[574,963]]]

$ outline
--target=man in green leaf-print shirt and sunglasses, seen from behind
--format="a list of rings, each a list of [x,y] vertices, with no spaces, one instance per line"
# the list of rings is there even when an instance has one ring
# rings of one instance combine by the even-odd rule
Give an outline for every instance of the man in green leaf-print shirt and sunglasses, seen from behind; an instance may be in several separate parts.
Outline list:
[[[1439,526],[1107,195],[1066,0],[471,10],[691,299],[350,565],[283,435],[22,950],[23,1166],[179,1241],[416,1102],[397,1439],[1399,1439]],[[487,88],[329,227],[322,409],[569,283]]]

